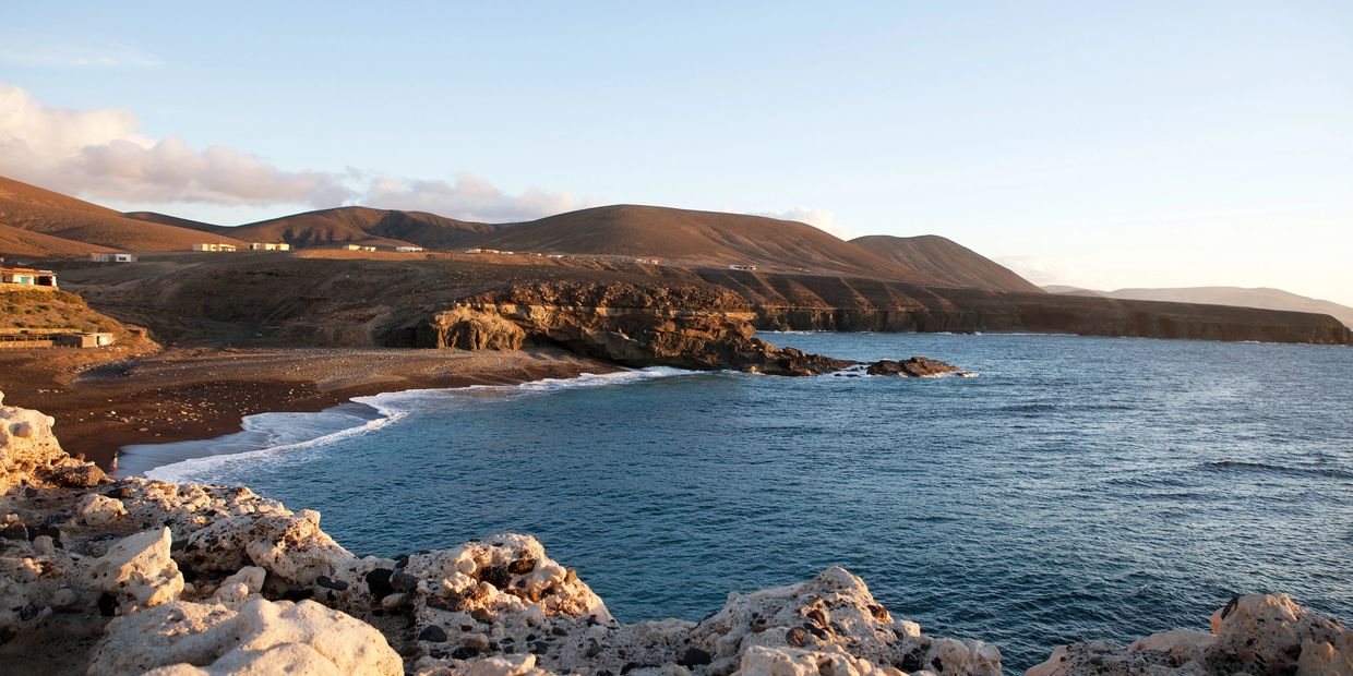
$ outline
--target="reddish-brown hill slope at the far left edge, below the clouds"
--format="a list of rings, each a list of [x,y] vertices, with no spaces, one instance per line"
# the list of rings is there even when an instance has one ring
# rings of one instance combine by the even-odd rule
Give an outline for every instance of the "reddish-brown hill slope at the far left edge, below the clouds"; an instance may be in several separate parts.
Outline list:
[[[0,223],[84,242],[80,253],[89,253],[88,245],[130,251],[173,251],[189,250],[204,239],[241,243],[221,235],[208,238],[195,230],[131,219],[97,204],[4,177],[0,177]],[[43,242],[55,246],[54,242]],[[64,256],[57,249],[42,253]]]

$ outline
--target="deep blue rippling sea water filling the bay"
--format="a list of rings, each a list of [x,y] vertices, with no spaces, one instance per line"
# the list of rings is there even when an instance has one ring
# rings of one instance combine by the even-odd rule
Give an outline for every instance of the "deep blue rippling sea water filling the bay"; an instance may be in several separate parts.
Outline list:
[[[1012,673],[1061,644],[1206,630],[1239,592],[1353,621],[1353,349],[767,338],[980,376],[659,369],[382,395],[361,402],[388,423],[152,475],[317,508],[359,554],[532,533],[621,621],[698,619],[844,565],[927,633],[997,644]]]

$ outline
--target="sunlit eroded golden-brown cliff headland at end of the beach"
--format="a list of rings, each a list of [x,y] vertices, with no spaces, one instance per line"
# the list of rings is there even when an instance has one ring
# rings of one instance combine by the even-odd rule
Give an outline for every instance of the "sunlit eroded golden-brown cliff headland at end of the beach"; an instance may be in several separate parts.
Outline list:
[[[690,285],[529,284],[468,297],[406,322],[387,345],[511,350],[556,345],[626,366],[819,375],[854,362],[754,338],[732,292]]]

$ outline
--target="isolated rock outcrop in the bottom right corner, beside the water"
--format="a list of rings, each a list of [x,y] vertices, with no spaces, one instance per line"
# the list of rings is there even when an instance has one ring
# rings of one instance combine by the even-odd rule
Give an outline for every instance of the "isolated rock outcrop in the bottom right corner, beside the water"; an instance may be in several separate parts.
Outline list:
[[[1353,633],[1284,594],[1252,594],[1212,615],[1212,634],[1165,631],[1127,649],[1105,641],[1061,646],[1027,676],[1212,673],[1353,676]]]

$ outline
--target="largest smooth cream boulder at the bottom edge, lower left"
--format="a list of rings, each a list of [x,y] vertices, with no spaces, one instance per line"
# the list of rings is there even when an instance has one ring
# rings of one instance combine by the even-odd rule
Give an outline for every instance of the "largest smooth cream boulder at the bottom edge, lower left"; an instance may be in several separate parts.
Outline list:
[[[238,610],[175,602],[119,618],[89,673],[399,675],[399,654],[375,627],[310,600],[254,598]]]

